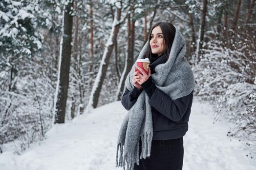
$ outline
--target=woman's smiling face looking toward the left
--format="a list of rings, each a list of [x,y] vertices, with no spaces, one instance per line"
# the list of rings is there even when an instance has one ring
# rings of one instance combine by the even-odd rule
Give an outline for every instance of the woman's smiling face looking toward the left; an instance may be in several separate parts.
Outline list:
[[[160,56],[165,51],[164,36],[160,26],[157,26],[152,30],[149,44],[153,54],[158,54],[158,56]]]

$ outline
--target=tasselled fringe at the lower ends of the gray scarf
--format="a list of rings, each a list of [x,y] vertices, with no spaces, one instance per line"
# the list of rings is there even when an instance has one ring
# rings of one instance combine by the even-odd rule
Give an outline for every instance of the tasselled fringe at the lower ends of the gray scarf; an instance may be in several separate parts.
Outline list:
[[[123,167],[124,170],[133,170],[134,163],[139,165],[139,159],[146,158],[150,156],[151,150],[151,141],[152,141],[152,133],[146,132],[143,136],[141,136],[142,140],[142,152],[139,156],[139,139],[137,142],[136,150],[133,153],[124,153],[124,144],[119,143],[117,145],[117,153],[116,153],[116,167]]]

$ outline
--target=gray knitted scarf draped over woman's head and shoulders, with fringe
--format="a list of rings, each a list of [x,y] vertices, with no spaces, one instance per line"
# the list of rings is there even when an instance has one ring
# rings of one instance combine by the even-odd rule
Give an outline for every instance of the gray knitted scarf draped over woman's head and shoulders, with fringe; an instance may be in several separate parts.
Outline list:
[[[176,32],[166,63],[155,67],[152,80],[156,87],[171,97],[172,100],[189,95],[194,89],[194,78],[189,63],[184,58],[186,52],[185,39],[175,26]],[[145,58],[149,48],[148,42],[143,47],[138,58]],[[125,81],[128,90],[132,90],[132,66]],[[139,159],[150,156],[153,125],[149,97],[143,90],[137,101],[128,111],[119,131],[116,153],[116,167],[127,167],[133,170],[134,163],[139,165]],[[139,141],[142,141],[142,152],[139,155]]]

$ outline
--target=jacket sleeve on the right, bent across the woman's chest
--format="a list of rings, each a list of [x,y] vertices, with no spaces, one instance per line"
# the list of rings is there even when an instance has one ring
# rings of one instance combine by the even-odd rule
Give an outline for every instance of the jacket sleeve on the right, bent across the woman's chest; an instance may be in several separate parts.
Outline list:
[[[193,91],[188,96],[172,101],[168,95],[155,86],[150,77],[141,85],[149,96],[149,104],[168,119],[175,122],[182,119],[192,100]]]

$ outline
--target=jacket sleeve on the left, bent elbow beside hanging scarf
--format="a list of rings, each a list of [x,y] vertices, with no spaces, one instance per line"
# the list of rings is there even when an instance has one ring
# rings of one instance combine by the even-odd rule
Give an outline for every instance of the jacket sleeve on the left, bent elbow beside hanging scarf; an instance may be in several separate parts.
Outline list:
[[[134,87],[132,90],[128,90],[126,88],[125,93],[122,97],[122,105],[125,107],[126,110],[130,110],[133,104],[137,101],[140,93],[142,92],[143,88],[138,89]]]

